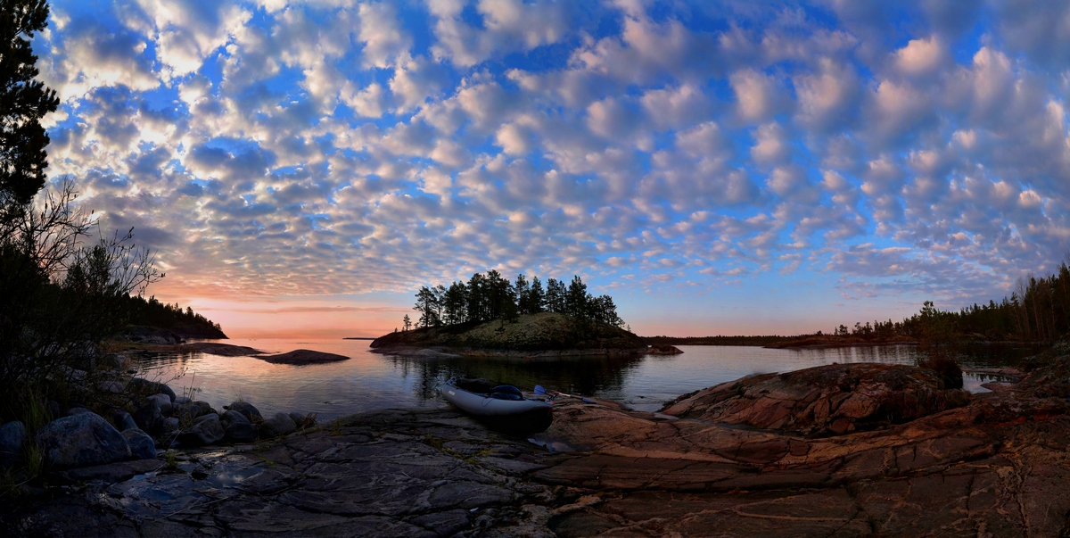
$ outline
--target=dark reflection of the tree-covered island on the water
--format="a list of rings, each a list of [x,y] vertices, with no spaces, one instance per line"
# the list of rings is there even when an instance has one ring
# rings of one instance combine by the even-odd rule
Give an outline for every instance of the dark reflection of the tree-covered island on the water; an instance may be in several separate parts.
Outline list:
[[[421,401],[438,398],[437,388],[450,377],[482,377],[516,385],[532,391],[536,385],[563,392],[591,395],[620,389],[630,372],[642,362],[642,356],[582,356],[568,358],[413,358],[385,355],[401,369],[401,375],[418,375],[416,397]]]

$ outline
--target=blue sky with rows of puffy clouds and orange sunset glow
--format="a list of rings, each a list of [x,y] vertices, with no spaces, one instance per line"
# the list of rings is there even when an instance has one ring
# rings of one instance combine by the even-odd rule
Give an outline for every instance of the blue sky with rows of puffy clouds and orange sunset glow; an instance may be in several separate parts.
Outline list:
[[[63,0],[49,182],[231,337],[496,269],[644,335],[997,301],[1070,252],[1070,2]]]

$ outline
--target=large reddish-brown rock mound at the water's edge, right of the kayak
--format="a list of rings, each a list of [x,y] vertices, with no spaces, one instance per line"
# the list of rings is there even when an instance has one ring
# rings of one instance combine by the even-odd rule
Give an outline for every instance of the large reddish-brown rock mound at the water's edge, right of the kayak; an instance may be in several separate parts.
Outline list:
[[[830,364],[760,374],[685,394],[662,413],[805,435],[843,434],[901,423],[964,403],[927,369]]]

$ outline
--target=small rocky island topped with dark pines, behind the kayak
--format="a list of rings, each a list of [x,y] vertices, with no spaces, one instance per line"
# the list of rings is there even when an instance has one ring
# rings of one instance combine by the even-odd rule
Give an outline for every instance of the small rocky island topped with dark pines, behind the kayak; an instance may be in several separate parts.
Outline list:
[[[643,341],[625,329],[608,295],[593,296],[580,277],[567,285],[538,277],[509,281],[496,270],[468,282],[423,286],[416,293],[415,329],[406,315],[403,330],[376,339],[379,352],[432,348],[464,354],[640,353]]]

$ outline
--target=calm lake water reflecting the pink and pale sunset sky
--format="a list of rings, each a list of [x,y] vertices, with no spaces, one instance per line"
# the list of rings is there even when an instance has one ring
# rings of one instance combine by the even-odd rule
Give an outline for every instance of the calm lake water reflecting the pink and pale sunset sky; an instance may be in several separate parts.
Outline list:
[[[262,413],[315,412],[331,419],[389,407],[447,405],[435,387],[450,377],[484,377],[531,391],[535,385],[562,392],[622,402],[639,410],[656,410],[668,400],[755,373],[789,372],[832,362],[912,364],[913,346],[837,349],[764,349],[761,347],[681,346],[683,355],[569,359],[426,359],[372,354],[365,340],[227,340],[269,353],[305,348],[336,353],[350,360],[294,367],[251,357],[202,353],[166,354],[140,360],[150,378],[167,382],[175,392],[195,388],[197,400],[215,406],[241,398]],[[1029,349],[972,350],[966,368],[1005,365]],[[966,388],[983,390],[987,379],[967,375]]]

